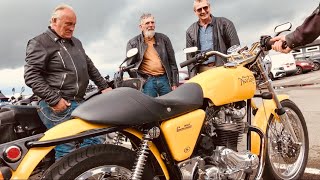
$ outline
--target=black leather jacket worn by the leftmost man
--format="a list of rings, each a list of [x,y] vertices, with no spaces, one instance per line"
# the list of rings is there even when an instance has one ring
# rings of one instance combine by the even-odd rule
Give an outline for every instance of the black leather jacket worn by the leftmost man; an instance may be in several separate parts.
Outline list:
[[[81,42],[61,39],[50,29],[29,40],[24,68],[26,85],[50,106],[61,98],[82,100],[89,79],[101,89],[108,87]]]

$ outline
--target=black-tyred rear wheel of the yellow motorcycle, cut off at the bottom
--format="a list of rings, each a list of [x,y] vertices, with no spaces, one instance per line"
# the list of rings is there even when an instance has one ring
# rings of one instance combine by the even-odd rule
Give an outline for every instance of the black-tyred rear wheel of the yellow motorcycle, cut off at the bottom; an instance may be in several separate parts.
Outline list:
[[[42,179],[129,180],[136,155],[121,146],[100,144],[75,150],[53,164]],[[145,165],[142,179],[153,179],[152,168]]]

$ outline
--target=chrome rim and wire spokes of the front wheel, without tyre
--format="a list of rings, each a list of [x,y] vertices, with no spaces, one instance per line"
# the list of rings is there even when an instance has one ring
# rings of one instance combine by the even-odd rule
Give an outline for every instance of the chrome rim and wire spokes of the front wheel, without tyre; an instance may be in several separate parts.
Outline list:
[[[285,131],[284,124],[276,119],[268,123],[268,157],[270,165],[278,178],[291,179],[301,169],[305,156],[304,129],[296,112],[284,107],[289,117],[294,133],[302,146],[292,142],[292,135]]]

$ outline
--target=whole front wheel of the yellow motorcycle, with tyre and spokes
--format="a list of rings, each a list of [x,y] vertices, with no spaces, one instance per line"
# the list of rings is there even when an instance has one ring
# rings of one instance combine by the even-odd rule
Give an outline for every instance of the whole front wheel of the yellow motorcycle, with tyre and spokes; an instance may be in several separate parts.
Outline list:
[[[284,124],[275,118],[270,118],[266,136],[268,140],[264,179],[301,179],[308,161],[309,137],[305,119],[297,107],[290,100],[281,101],[289,123],[301,142],[294,144]]]

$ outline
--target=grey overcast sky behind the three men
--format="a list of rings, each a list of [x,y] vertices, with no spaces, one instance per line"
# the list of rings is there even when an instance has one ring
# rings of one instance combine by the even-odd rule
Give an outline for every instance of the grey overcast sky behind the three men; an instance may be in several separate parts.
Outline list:
[[[142,13],[155,16],[156,31],[171,39],[177,63],[185,60],[185,31],[197,20],[193,0],[1,0],[0,90],[4,94],[25,86],[26,44],[46,30],[52,10],[61,3],[75,9],[74,36],[82,41],[102,75],[111,77],[125,58],[127,41],[140,33]],[[318,4],[318,0],[211,0],[211,9],[214,16],[230,19],[241,45],[250,46],[260,35],[272,35],[278,24],[289,21],[295,29]]]

